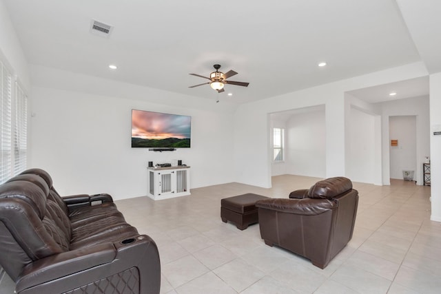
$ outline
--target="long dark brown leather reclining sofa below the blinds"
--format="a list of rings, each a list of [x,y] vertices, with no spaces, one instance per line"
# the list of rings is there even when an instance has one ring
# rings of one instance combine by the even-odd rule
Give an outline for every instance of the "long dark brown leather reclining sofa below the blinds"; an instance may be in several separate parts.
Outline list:
[[[159,293],[158,248],[107,194],[59,196],[42,169],[0,185],[0,264],[17,293]]]

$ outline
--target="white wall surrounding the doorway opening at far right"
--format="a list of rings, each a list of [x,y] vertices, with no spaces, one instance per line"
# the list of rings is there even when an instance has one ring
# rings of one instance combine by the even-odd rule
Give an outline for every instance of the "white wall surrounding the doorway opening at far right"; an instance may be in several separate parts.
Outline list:
[[[431,152],[429,97],[398,99],[377,104],[382,109],[382,172],[384,185],[389,185],[389,178],[391,178],[389,141],[391,139],[389,135],[389,117],[391,116],[416,116],[416,169],[414,179],[417,181],[417,185],[422,185],[422,162],[424,162],[424,156],[428,156]]]

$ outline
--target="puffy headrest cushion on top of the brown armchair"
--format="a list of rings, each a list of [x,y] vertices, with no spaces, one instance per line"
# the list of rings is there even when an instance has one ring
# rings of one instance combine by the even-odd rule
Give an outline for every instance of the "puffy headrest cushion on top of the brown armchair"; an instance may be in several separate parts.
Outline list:
[[[335,196],[340,195],[352,189],[352,182],[349,178],[336,177],[327,178],[316,182],[314,186],[309,189],[309,198],[322,198],[331,200]]]

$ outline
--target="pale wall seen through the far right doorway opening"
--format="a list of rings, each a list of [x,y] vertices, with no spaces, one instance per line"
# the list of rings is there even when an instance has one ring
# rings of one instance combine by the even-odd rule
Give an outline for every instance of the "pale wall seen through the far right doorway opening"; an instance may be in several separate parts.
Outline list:
[[[389,116],[389,156],[391,178],[403,179],[402,171],[411,170],[416,179],[416,116]]]

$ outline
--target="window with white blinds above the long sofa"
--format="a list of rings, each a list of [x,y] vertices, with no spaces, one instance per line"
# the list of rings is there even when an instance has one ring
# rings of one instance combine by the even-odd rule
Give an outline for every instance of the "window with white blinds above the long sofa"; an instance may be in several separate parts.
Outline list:
[[[0,61],[0,184],[26,168],[28,98]]]

